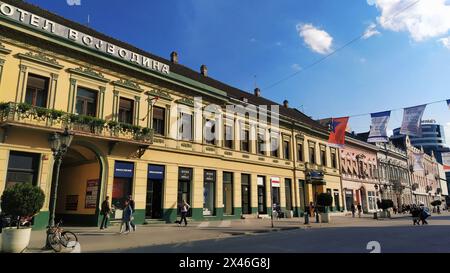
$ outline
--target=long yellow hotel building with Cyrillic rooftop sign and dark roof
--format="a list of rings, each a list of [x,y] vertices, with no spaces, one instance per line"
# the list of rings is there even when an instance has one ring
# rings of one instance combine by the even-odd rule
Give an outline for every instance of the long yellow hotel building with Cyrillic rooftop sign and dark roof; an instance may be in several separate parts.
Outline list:
[[[132,195],[137,223],[173,222],[183,199],[194,220],[270,214],[273,203],[300,216],[320,192],[343,209],[339,151],[326,128],[287,102],[26,3],[0,1],[0,29],[0,193],[15,183],[41,187],[36,228],[47,225],[55,183],[49,136],[65,128],[74,134],[57,189],[65,223],[98,225],[106,196],[120,219]],[[267,106],[279,122],[262,122],[251,106]]]

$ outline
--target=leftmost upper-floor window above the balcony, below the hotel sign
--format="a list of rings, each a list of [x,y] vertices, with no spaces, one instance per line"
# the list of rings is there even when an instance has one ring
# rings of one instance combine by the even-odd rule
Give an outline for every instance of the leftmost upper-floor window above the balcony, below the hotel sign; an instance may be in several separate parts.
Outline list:
[[[48,86],[48,78],[29,74],[25,103],[38,107],[47,107]]]

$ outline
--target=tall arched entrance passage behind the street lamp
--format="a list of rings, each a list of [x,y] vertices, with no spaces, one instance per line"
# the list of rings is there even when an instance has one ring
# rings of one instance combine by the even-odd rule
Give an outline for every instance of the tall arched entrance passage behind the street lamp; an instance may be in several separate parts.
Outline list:
[[[97,226],[102,200],[104,160],[92,145],[74,141],[59,175],[56,221],[64,225]]]

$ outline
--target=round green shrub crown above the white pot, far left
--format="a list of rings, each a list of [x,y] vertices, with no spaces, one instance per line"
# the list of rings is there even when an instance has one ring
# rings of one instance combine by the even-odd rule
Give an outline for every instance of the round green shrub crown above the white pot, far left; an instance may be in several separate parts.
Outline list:
[[[1,208],[5,215],[17,220],[17,228],[20,228],[20,220],[38,214],[44,200],[45,194],[41,188],[30,183],[17,183],[3,192]]]

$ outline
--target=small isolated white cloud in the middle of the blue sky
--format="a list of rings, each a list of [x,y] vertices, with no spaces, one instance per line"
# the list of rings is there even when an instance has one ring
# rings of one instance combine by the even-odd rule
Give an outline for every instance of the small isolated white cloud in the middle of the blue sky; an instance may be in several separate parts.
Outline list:
[[[331,52],[333,37],[326,31],[314,27],[312,24],[298,24],[297,31],[305,44],[314,52],[327,54]]]

